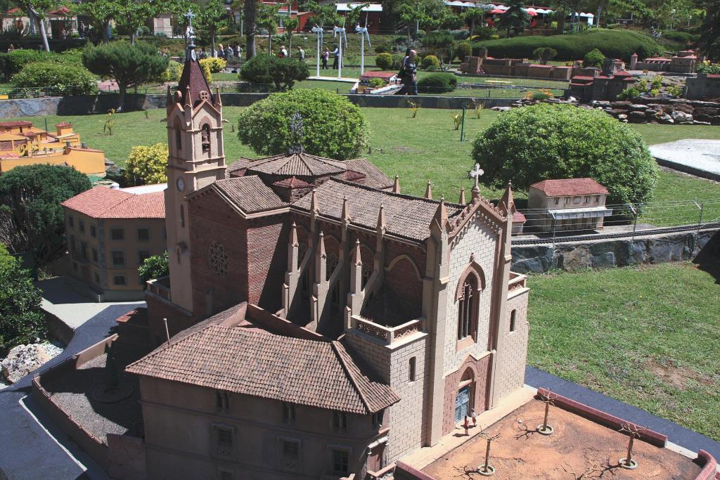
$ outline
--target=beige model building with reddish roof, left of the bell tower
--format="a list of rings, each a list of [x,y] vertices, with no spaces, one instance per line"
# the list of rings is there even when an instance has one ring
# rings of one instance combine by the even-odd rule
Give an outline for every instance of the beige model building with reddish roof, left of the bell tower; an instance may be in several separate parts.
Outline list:
[[[166,250],[163,192],[132,191],[96,186],[62,204],[70,274],[99,302],[145,298],[138,266]]]

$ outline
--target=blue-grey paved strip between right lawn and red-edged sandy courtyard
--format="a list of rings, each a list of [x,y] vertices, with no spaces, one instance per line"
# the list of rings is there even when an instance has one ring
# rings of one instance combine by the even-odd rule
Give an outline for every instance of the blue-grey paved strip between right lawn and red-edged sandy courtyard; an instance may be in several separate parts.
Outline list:
[[[695,453],[702,449],[715,458],[720,458],[720,442],[693,432],[693,430],[681,427],[677,423],[670,422],[670,420],[652,415],[643,409],[600,394],[597,391],[586,389],[584,386],[563,380],[558,376],[529,366],[525,369],[525,383],[534,386],[536,389],[541,387],[551,389],[555,393],[569,397],[576,402],[586,404],[603,412],[608,412],[623,420],[629,420],[638,425],[643,425],[658,433],[663,433],[667,435],[669,442],[680,445]]]

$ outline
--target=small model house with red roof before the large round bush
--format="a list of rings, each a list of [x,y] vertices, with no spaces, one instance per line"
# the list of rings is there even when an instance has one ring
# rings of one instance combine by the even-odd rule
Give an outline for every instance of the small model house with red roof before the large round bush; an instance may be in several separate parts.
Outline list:
[[[612,214],[607,196],[608,189],[593,178],[539,181],[528,190],[525,226],[534,232],[599,230]]]

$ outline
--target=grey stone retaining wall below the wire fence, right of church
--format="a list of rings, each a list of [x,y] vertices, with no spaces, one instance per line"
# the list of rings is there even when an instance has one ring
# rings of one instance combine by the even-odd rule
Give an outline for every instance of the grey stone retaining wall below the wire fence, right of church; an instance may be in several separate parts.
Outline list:
[[[718,230],[682,232],[652,237],[630,237],[584,243],[513,245],[512,270],[518,273],[545,273],[562,269],[579,271],[667,263],[696,258],[705,249],[708,255],[720,255]]]

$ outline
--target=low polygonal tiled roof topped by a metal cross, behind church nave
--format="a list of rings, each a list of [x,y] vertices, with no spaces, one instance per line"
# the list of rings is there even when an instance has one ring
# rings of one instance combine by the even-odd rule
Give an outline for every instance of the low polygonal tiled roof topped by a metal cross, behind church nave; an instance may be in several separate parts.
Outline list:
[[[236,163],[240,163],[240,160]],[[248,168],[250,172],[302,177],[333,175],[346,170],[345,164],[339,160],[330,160],[309,153],[282,153],[246,161],[240,163],[237,168],[242,168],[242,166]]]

